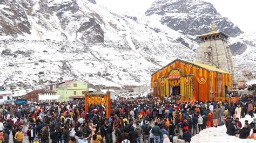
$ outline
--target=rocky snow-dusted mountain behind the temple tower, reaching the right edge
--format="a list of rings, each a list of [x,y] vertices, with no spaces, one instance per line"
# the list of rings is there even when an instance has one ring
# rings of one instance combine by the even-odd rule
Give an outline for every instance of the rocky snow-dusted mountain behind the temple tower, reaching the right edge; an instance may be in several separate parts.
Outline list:
[[[159,22],[186,35],[200,35],[215,24],[218,31],[230,36],[228,42],[234,55],[234,65],[238,77],[242,70],[255,73],[256,34],[244,33],[231,20],[218,13],[211,3],[204,1],[162,0],[155,1],[145,15],[158,17]],[[195,39],[197,40],[197,39]]]

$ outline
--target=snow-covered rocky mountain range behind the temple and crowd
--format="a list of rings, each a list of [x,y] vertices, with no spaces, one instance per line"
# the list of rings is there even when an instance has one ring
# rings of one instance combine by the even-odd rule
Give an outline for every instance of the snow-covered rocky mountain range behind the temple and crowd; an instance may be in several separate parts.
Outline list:
[[[212,21],[232,36],[231,45],[248,45],[237,26],[202,1],[157,1],[145,15],[113,13],[93,0],[0,1],[0,19],[0,85],[12,90],[71,78],[148,85],[150,74],[172,60],[194,60],[196,34]]]

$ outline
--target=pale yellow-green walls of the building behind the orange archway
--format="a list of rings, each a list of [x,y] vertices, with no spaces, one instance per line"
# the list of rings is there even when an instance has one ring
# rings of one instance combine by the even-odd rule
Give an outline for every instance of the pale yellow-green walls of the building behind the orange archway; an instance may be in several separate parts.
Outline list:
[[[77,84],[77,87],[74,87],[74,84]],[[70,96],[83,96],[82,92],[88,90],[87,83],[75,81],[68,85],[59,85],[58,88],[55,89],[57,95],[60,95],[60,102],[69,101]],[[76,95],[74,94],[76,91]]]

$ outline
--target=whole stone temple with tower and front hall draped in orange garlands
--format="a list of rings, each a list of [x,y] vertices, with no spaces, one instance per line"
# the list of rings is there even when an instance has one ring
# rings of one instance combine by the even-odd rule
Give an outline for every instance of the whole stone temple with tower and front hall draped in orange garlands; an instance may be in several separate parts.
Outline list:
[[[235,82],[228,36],[215,31],[199,35],[196,62],[176,59],[151,77],[154,96],[176,96],[181,101],[225,99]]]

